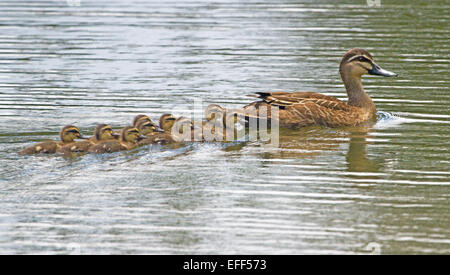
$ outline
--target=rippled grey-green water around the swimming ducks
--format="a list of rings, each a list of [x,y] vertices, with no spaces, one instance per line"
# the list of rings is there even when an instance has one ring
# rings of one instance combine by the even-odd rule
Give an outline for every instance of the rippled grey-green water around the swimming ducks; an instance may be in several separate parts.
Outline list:
[[[448,1],[0,1],[0,253],[450,253]],[[336,2],[340,2],[337,4]],[[17,155],[75,124],[346,99],[352,47],[378,121],[259,142]]]

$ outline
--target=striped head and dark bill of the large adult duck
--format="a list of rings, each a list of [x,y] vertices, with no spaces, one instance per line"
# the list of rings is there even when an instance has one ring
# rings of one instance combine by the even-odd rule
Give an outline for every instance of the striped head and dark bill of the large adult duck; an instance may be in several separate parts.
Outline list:
[[[349,50],[341,60],[339,72],[344,78],[345,76],[352,76],[361,78],[365,74],[381,75],[381,76],[397,76],[396,73],[387,71],[378,66],[372,55],[360,48]]]

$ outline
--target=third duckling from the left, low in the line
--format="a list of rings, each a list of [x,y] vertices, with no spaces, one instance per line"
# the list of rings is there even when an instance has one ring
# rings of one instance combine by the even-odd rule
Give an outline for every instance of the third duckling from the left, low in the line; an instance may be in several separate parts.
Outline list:
[[[127,126],[122,129],[120,140],[102,141],[89,148],[89,152],[96,154],[119,152],[131,150],[138,146],[138,141],[145,138],[139,133],[139,130],[133,126]]]

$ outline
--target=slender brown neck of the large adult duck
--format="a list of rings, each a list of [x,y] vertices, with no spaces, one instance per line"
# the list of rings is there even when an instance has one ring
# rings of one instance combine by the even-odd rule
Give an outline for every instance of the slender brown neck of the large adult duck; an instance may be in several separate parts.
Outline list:
[[[373,113],[376,112],[375,104],[366,92],[361,83],[361,77],[341,73],[345,89],[348,95],[348,105],[367,109]]]

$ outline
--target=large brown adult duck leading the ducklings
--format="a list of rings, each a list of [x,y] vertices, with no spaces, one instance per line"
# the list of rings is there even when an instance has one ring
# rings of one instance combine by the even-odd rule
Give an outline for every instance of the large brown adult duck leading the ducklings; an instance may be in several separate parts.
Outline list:
[[[347,90],[348,102],[313,92],[268,92],[256,93],[261,101],[244,107],[246,119],[271,118],[271,107],[279,108],[280,126],[299,128],[308,125],[328,127],[357,125],[372,119],[375,104],[364,91],[361,77],[365,74],[386,77],[397,76],[378,66],[372,55],[359,48],[349,50],[341,60],[339,72]],[[267,115],[261,115],[267,110]],[[258,114],[259,113],[259,114]]]

